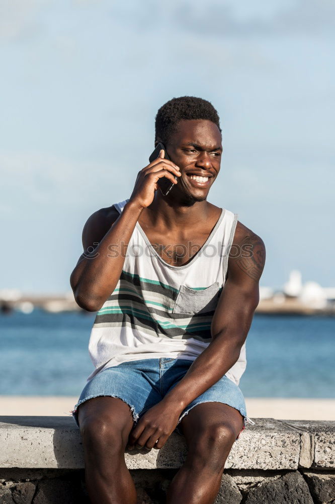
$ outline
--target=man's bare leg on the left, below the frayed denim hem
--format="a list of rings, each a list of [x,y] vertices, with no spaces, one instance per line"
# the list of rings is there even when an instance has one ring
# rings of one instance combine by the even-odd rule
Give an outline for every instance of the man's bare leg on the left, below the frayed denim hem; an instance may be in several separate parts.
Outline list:
[[[136,504],[136,490],[124,459],[133,417],[116,397],[95,397],[78,408],[85,478],[92,504]]]

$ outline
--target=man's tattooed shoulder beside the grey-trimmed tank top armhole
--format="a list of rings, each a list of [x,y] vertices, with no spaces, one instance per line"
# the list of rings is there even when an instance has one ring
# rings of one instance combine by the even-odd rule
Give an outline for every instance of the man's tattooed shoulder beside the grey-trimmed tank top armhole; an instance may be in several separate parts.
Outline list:
[[[230,272],[243,272],[249,278],[259,281],[266,258],[263,239],[254,231],[237,221],[233,243],[228,257]]]

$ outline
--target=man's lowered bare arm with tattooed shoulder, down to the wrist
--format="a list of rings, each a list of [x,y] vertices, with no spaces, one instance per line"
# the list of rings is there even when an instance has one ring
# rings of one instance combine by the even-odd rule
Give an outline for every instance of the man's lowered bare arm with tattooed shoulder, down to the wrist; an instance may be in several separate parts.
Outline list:
[[[246,250],[244,256],[247,257],[228,260],[227,280],[211,324],[212,341],[162,400],[180,411],[214,385],[238,360],[259,303],[259,279],[265,264],[264,242],[238,224],[234,243]]]

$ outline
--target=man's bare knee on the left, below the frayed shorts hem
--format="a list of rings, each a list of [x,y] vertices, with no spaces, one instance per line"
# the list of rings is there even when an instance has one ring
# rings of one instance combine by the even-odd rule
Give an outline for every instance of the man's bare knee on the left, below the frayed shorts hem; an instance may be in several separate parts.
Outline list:
[[[122,430],[118,429],[113,419],[108,415],[89,415],[80,422],[80,433],[83,445],[90,450],[121,451],[124,450],[127,439]]]

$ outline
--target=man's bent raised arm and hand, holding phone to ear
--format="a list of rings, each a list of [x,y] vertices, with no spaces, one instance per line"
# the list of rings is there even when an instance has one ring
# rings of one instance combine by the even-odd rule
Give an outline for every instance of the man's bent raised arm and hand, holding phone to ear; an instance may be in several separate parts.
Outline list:
[[[129,240],[142,210],[148,207],[157,190],[157,180],[180,169],[172,161],[159,157],[137,174],[134,190],[121,215],[117,210],[101,209],[88,219],[82,231],[83,254],[70,276],[77,304],[88,311],[98,311],[114,291],[124,265]],[[91,249],[92,248],[92,249]]]

